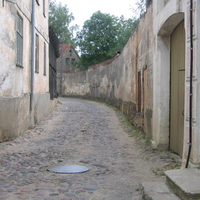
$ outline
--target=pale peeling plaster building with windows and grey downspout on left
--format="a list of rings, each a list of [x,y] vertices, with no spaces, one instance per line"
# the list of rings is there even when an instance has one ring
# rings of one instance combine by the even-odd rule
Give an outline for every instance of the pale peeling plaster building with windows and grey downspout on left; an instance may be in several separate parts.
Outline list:
[[[0,141],[19,136],[56,104],[49,93],[48,1],[0,1]]]

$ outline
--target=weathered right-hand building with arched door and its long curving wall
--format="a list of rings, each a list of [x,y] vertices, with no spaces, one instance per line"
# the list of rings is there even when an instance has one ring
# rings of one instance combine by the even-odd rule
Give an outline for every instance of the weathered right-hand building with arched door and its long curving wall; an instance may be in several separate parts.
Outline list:
[[[67,96],[117,106],[157,149],[200,165],[200,1],[152,0],[111,63],[66,74]],[[190,161],[190,162],[189,162]]]

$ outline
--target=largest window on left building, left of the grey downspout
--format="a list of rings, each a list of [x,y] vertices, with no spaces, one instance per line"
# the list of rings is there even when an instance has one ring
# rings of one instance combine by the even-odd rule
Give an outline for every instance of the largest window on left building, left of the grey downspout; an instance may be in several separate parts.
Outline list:
[[[17,15],[17,66],[23,66],[23,19]]]

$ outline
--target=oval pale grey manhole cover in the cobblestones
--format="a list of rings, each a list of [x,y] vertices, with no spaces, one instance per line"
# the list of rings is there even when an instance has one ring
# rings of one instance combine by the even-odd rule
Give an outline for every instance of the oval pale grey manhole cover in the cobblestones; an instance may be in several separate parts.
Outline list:
[[[82,173],[88,170],[89,169],[87,167],[81,165],[61,165],[48,169],[48,171],[51,172],[66,173],[66,174]]]

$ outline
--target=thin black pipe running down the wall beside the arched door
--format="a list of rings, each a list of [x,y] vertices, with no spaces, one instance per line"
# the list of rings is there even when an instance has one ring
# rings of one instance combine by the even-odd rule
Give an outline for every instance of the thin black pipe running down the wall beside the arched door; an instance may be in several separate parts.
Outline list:
[[[192,76],[193,76],[193,0],[190,0],[190,100],[189,100],[189,148],[185,168],[188,168],[192,149]]]

